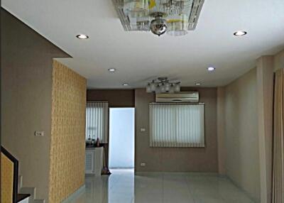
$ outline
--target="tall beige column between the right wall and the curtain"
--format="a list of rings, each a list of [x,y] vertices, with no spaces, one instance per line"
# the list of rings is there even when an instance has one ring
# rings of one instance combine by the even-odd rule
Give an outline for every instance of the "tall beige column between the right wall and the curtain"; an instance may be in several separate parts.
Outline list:
[[[261,175],[261,203],[271,202],[273,141],[273,56],[257,60],[258,143]]]

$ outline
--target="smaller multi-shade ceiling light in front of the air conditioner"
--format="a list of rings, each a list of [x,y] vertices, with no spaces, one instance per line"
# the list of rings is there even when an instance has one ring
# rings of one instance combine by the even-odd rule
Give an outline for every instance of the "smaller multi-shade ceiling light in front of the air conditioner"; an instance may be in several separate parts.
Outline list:
[[[147,84],[146,92],[155,92],[155,94],[180,92],[180,82],[170,82],[168,77],[158,77]]]

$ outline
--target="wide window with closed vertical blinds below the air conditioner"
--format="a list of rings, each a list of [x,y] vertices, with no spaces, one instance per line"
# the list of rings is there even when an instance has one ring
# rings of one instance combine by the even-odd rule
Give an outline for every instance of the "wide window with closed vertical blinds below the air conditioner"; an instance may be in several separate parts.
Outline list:
[[[149,105],[151,147],[204,147],[204,104]]]

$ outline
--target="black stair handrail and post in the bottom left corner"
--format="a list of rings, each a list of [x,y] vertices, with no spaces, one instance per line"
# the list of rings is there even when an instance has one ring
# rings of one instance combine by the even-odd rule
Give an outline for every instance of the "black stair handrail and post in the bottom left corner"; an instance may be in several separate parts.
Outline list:
[[[13,203],[16,203],[18,194],[18,160],[3,146],[1,146],[1,153],[4,153],[13,162]]]

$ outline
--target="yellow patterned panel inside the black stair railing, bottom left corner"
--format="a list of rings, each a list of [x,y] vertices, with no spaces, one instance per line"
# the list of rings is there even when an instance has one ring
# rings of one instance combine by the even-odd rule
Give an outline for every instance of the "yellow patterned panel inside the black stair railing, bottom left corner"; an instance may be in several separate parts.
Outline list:
[[[1,202],[13,202],[13,162],[1,153]]]

